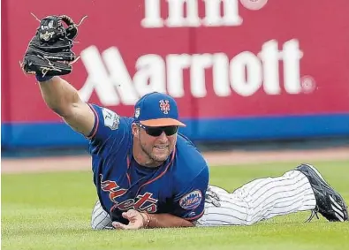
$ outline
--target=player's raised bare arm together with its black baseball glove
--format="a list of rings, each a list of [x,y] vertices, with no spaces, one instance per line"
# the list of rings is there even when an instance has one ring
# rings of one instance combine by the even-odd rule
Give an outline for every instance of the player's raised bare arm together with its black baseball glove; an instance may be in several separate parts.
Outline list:
[[[23,72],[36,76],[49,108],[74,130],[87,136],[94,126],[94,112],[80,100],[78,91],[59,77],[71,73],[77,59],[72,46],[78,26],[65,15],[40,20],[21,67]]]

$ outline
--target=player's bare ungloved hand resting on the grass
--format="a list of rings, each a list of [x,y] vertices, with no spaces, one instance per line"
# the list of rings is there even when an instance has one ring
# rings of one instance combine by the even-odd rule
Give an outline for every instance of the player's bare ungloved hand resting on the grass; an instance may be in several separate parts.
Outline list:
[[[137,210],[130,209],[127,212],[124,212],[122,216],[129,221],[128,224],[113,222],[112,225],[115,229],[122,230],[137,230],[144,228],[147,225],[147,216],[142,215]]]

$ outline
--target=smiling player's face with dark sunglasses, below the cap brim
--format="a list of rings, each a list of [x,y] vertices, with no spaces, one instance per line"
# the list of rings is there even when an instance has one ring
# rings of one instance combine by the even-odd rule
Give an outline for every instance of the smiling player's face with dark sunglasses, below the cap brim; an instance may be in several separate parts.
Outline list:
[[[154,162],[166,161],[177,141],[178,126],[139,125],[140,148]]]

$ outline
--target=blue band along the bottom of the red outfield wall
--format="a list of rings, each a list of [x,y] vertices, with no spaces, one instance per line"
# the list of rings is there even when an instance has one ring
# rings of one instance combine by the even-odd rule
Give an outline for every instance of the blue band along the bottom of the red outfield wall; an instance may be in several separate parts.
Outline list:
[[[192,140],[283,140],[349,136],[349,113],[285,116],[184,119],[181,130]],[[87,140],[62,123],[2,124],[2,147],[80,147]]]

